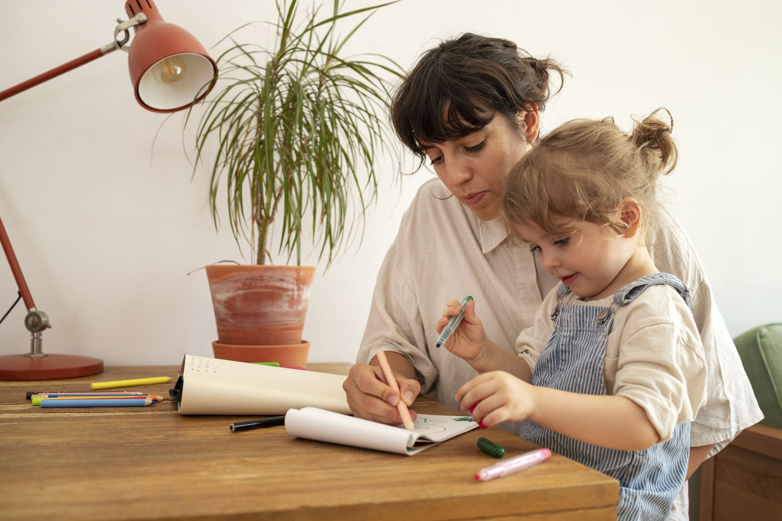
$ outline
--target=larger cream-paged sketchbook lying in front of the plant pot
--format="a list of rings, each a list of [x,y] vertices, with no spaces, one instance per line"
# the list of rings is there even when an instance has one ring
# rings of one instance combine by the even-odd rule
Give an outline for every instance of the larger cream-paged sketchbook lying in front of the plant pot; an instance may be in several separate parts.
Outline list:
[[[179,413],[276,415],[318,407],[350,414],[345,376],[185,355],[171,400]]]

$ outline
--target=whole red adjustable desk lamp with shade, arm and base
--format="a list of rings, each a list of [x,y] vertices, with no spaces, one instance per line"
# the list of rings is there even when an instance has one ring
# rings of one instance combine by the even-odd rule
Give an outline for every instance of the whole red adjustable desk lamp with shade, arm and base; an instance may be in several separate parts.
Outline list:
[[[0,92],[0,102],[117,49],[128,53],[131,84],[136,100],[145,109],[175,112],[201,101],[217,81],[217,64],[203,45],[186,30],[164,21],[152,0],[127,0],[125,12],[129,20],[117,19],[119,25],[110,44]],[[135,32],[132,46],[127,45],[131,27]],[[117,39],[120,33],[122,37]],[[48,380],[100,373],[101,359],[42,351],[41,334],[52,326],[46,313],[35,307],[2,220],[0,243],[27,308],[24,325],[32,335],[29,353],[0,356],[0,380]]]

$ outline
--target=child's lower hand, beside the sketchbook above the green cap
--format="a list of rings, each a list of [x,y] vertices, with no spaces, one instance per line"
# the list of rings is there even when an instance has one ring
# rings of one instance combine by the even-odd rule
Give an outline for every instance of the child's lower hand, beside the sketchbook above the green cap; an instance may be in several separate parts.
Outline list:
[[[461,410],[472,405],[472,417],[490,427],[504,421],[524,422],[535,411],[537,390],[532,384],[504,371],[475,376],[456,392]],[[477,405],[476,405],[477,404]]]

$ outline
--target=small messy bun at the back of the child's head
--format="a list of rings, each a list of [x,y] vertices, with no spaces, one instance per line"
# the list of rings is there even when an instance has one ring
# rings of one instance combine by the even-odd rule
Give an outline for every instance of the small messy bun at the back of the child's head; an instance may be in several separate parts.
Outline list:
[[[668,112],[670,123],[659,120],[656,116],[661,110]],[[641,158],[648,166],[651,180],[657,179],[662,173],[666,175],[676,166],[678,151],[676,142],[671,137],[673,130],[673,116],[665,107],[652,112],[643,120],[637,121],[630,134],[630,141],[638,147]]]

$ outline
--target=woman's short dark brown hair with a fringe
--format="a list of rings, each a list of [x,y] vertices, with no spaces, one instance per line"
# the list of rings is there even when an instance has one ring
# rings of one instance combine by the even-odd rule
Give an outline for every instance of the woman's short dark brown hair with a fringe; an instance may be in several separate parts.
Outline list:
[[[465,137],[486,127],[495,112],[518,128],[516,116],[524,105],[536,103],[543,111],[551,97],[551,71],[560,80],[567,73],[558,62],[535,59],[512,41],[465,33],[421,56],[394,92],[390,120],[402,143],[421,156],[421,141]],[[560,81],[556,92],[561,87]]]

